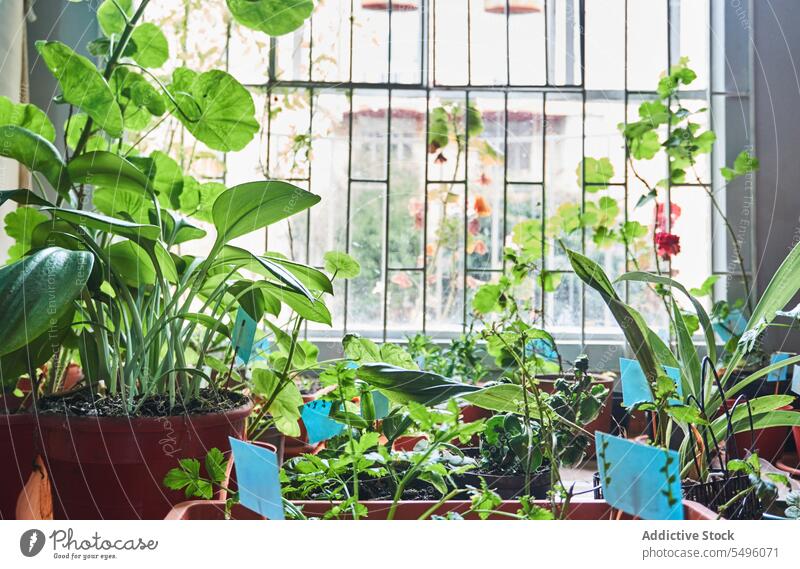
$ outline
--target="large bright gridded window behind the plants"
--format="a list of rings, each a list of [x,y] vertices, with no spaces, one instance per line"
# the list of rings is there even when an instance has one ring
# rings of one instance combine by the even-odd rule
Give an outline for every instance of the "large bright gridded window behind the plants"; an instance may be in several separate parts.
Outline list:
[[[262,128],[243,151],[225,155],[167,119],[158,126],[159,148],[183,157],[197,180],[185,199],[200,209],[217,184],[263,177],[322,197],[306,214],[236,243],[317,266],[327,250],[359,261],[361,275],[339,284],[329,303],[333,329],[311,327],[309,336],[460,333],[470,326],[476,288],[502,274],[504,245],[523,220],[542,220],[548,239],[561,231],[610,275],[632,269],[618,241],[596,242],[559,225],[598,204],[617,221],[640,222],[648,235],[669,217],[681,251],[665,268],[687,287],[730,268],[720,222],[699,187],[715,184],[725,203],[712,172],[747,142],[746,134],[732,141],[726,132],[749,132],[748,85],[732,85],[730,73],[715,69],[748,64],[726,59],[723,2],[403,0],[390,7],[388,0],[320,0],[309,25],[272,40],[231,22],[222,0],[203,2],[201,12],[185,11],[187,2],[196,5],[152,3],[147,19],[168,35],[178,61],[227,68],[246,84]],[[655,98],[660,74],[681,57],[697,73],[683,104],[708,109],[696,121],[711,121],[718,140],[698,164],[698,180],[669,188],[665,216],[656,209],[663,202],[637,202],[645,193],[639,176],[663,178],[666,162],[633,172],[618,125],[637,120],[639,104]],[[726,128],[731,123],[738,128]],[[444,139],[432,141],[443,130]],[[582,185],[585,158],[608,159],[607,188]],[[636,261],[655,269],[652,258]],[[541,268],[545,278],[529,295],[548,330],[561,341],[618,339],[602,300],[587,294],[563,251],[544,247]],[[725,287],[720,279],[717,298]],[[666,333],[654,293],[621,292]]]

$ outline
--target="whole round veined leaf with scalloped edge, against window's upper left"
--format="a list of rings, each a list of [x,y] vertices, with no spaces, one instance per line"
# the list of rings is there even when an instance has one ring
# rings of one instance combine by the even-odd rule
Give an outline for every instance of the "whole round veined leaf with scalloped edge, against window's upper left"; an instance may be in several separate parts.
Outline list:
[[[200,142],[214,150],[241,150],[259,125],[250,92],[232,75],[214,69],[198,75],[175,70],[169,86],[178,108],[172,113]]]

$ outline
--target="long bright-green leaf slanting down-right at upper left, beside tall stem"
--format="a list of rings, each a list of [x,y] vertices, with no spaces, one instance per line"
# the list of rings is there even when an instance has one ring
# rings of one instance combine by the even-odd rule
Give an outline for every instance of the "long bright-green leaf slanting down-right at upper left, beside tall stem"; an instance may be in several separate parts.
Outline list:
[[[36,49],[58,80],[64,100],[84,111],[109,135],[121,136],[122,111],[92,62],[57,41],[37,41]]]

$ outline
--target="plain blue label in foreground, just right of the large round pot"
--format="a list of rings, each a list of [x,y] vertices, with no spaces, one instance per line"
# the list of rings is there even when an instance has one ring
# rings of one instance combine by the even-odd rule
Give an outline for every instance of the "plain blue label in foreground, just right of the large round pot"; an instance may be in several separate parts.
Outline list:
[[[268,520],[282,520],[278,456],[271,450],[229,437],[239,486],[239,503]]]

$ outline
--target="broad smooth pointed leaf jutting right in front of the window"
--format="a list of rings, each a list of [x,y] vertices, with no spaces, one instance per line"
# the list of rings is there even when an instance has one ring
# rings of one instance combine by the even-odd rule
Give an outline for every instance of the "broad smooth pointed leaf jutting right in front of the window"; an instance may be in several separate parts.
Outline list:
[[[212,216],[217,240],[231,239],[263,229],[318,203],[320,197],[286,182],[239,184],[214,202]]]

